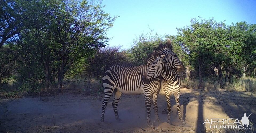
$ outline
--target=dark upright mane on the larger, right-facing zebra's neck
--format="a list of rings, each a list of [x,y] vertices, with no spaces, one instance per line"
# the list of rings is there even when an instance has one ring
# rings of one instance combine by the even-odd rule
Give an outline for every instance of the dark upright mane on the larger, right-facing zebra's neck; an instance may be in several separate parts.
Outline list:
[[[166,52],[167,52],[168,50],[173,50],[173,46],[171,45],[171,46],[169,46],[169,48],[167,48],[167,45],[166,45],[166,44],[163,45],[161,42],[159,43],[158,47],[154,48],[154,51],[157,52],[157,53],[159,53],[160,55],[166,54]],[[153,52],[152,52],[151,54],[149,54],[149,55],[147,56],[147,59],[146,59],[145,62],[146,62],[146,63],[151,63],[151,62],[154,61],[154,60],[155,60],[155,58],[154,58]]]

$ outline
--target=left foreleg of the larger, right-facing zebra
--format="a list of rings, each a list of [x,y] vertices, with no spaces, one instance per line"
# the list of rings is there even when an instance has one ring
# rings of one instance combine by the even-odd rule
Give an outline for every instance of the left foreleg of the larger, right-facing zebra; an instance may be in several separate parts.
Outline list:
[[[145,95],[145,107],[147,110],[147,124],[151,125],[150,114],[151,114],[151,104],[152,104],[152,94],[144,92]]]

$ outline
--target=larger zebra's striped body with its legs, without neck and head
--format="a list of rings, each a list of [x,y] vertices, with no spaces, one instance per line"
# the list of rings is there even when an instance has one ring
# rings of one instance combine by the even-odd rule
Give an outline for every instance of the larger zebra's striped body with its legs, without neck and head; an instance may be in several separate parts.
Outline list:
[[[146,72],[148,66],[149,64],[141,66],[116,65],[111,66],[109,70],[106,71],[105,76],[103,77],[105,97],[102,103],[101,121],[104,121],[104,111],[106,109],[107,102],[115,89],[115,98],[112,102],[115,118],[120,121],[117,112],[117,105],[122,94],[144,94],[147,110],[147,123],[150,124],[151,101],[154,98],[154,103],[157,103],[157,96],[153,97],[153,94],[157,94],[157,90],[160,87],[160,78],[154,79],[149,84],[143,83],[142,76]],[[157,106],[157,104],[155,105]],[[155,106],[154,109],[156,119],[159,121],[158,110],[156,110],[157,108]]]

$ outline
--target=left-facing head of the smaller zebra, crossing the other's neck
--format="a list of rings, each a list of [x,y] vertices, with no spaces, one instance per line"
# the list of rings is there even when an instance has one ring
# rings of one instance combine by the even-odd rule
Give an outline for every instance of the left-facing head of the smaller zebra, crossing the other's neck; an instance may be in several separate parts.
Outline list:
[[[160,55],[157,52],[153,52],[153,56],[156,58],[147,68],[147,71],[142,76],[142,81],[146,84],[154,78],[162,75],[162,66],[167,66],[167,63],[164,60],[166,54]],[[167,66],[169,67],[169,66]]]

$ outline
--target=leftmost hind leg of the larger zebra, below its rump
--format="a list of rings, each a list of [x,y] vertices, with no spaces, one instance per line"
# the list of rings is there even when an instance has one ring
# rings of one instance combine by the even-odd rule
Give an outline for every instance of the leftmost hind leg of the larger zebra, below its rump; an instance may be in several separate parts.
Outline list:
[[[101,122],[104,122],[104,114],[105,114],[105,110],[106,110],[106,107],[107,107],[107,103],[109,102],[109,99],[110,97],[112,96],[113,94],[113,90],[114,88],[111,86],[111,88],[109,87],[104,87],[104,100],[102,102],[102,110],[101,110]]]

